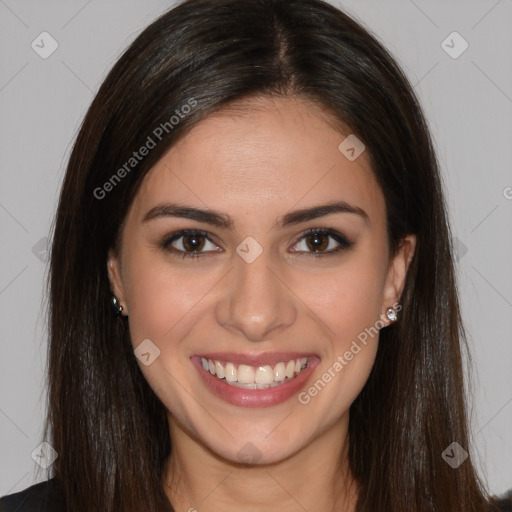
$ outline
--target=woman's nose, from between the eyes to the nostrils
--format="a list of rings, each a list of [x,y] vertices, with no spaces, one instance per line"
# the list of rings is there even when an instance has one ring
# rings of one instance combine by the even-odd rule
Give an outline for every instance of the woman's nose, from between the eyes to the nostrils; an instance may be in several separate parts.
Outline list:
[[[225,293],[216,307],[217,322],[249,341],[264,341],[276,329],[285,329],[297,316],[294,294],[284,276],[271,265],[270,251],[252,263],[235,256]]]

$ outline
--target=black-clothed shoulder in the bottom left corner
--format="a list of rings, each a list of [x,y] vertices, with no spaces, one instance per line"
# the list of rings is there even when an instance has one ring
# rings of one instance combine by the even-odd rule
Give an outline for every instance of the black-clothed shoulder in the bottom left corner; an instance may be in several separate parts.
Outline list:
[[[54,478],[0,498],[0,512],[65,512]]]

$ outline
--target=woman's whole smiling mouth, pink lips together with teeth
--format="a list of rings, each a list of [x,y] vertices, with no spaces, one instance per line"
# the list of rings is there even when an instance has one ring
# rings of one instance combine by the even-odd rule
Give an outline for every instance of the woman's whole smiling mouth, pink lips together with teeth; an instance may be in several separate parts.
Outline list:
[[[191,358],[213,395],[232,405],[280,404],[306,386],[320,358],[305,353],[211,353]]]

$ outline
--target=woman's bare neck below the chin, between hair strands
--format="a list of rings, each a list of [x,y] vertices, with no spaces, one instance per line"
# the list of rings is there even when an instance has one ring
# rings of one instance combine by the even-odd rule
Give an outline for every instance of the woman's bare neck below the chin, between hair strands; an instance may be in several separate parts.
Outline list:
[[[169,417],[172,453],[164,482],[176,512],[355,511],[348,468],[348,414],[287,459],[242,465],[217,456]]]

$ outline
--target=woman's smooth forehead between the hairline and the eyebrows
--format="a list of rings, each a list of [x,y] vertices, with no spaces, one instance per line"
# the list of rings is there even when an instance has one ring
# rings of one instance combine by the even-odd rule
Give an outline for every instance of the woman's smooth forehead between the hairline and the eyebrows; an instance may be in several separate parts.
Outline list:
[[[317,105],[258,98],[198,122],[144,178],[134,209],[182,202],[258,216],[344,200],[371,216],[384,202],[365,151],[339,149],[348,130]]]

